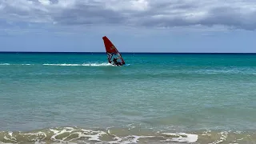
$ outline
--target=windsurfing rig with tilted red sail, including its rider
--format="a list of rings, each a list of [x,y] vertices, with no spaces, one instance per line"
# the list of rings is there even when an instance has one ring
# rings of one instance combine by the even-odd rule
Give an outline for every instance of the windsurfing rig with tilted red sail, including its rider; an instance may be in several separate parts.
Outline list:
[[[123,66],[126,62],[123,60],[122,55],[118,52],[118,49],[110,42],[109,38],[104,36],[103,42],[106,48],[107,59],[109,63],[115,66]]]

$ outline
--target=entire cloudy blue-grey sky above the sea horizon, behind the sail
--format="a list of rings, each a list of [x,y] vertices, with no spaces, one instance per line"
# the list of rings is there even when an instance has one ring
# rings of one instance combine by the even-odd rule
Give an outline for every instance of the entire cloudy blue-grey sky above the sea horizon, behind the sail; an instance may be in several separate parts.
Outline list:
[[[255,0],[0,0],[0,51],[256,53]]]

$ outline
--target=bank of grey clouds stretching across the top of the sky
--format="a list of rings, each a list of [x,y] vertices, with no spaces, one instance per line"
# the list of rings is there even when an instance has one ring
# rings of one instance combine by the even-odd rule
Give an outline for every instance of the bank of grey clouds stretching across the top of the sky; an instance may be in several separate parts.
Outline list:
[[[66,26],[226,26],[255,30],[254,0],[0,0],[0,18]]]

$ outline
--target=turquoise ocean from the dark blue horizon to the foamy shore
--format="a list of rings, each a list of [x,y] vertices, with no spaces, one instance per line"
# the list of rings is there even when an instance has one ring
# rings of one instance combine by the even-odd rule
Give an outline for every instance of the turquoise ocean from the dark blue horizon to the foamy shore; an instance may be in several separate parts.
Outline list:
[[[0,53],[0,143],[256,143],[256,54]]]

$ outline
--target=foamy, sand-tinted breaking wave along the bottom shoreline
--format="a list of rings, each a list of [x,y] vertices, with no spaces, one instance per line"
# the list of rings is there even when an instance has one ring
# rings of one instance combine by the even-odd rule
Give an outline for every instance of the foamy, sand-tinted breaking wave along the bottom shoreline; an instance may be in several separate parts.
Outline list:
[[[198,131],[192,134],[110,128],[57,127],[31,132],[0,132],[0,143],[254,143],[254,132]]]

